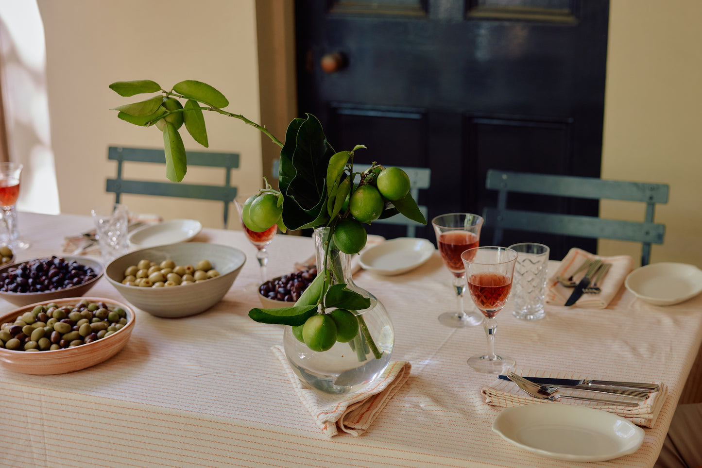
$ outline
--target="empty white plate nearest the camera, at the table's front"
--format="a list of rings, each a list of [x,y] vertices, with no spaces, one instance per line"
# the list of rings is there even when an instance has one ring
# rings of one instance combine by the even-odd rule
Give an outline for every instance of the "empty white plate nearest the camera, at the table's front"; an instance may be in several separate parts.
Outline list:
[[[601,462],[629,455],[644,441],[644,429],[623,417],[559,403],[505,408],[492,429],[515,446],[571,462]]]

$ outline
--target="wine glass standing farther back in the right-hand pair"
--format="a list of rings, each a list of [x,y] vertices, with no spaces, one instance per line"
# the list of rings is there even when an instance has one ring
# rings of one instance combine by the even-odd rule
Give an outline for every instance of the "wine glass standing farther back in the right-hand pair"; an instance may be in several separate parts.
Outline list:
[[[432,220],[437,244],[444,265],[453,274],[453,288],[456,289],[456,310],[439,315],[439,322],[452,328],[475,326],[482,323],[482,315],[472,310],[463,309],[463,292],[465,291],[465,267],[461,253],[477,247],[483,218],[472,213],[448,213]]]

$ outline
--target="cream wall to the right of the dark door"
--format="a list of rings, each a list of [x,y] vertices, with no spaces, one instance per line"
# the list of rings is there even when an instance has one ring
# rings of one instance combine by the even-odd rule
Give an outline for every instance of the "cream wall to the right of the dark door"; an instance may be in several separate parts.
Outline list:
[[[656,208],[665,241],[651,262],[702,267],[702,1],[612,0],[602,178],[670,185]],[[602,203],[603,218],[643,220],[644,208]],[[600,241],[600,253],[640,244]]]

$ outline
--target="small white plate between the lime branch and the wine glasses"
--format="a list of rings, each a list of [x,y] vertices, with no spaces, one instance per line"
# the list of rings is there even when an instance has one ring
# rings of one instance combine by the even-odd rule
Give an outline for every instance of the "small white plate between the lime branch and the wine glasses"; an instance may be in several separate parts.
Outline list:
[[[422,265],[432,253],[434,244],[426,239],[399,237],[369,248],[361,254],[359,263],[373,273],[402,274]]]

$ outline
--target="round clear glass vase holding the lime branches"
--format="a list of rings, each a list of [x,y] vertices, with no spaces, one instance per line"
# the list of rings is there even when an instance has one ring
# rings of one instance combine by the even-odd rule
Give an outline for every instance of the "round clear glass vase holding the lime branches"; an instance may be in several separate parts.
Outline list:
[[[383,303],[353,282],[350,255],[341,253],[333,243],[329,246],[329,242],[333,242],[329,231],[329,227],[314,230],[317,274],[329,271],[330,286],[345,284],[350,290],[368,297],[371,307],[352,311],[358,318],[359,332],[350,342],[336,342],[323,352],[312,351],[293,335],[292,327],[286,326],[283,344],[290,366],[303,382],[321,392],[345,394],[358,392],[385,370],[395,345],[395,333]]]

